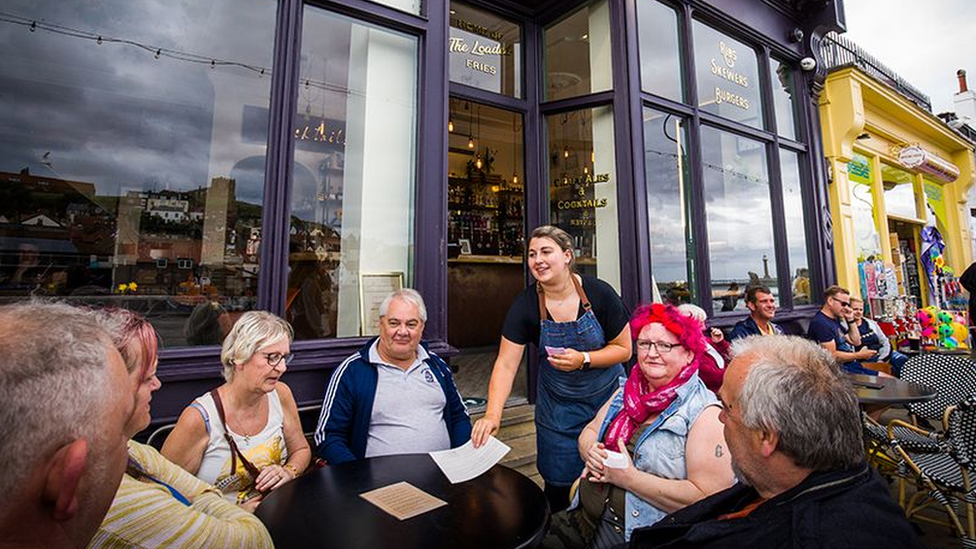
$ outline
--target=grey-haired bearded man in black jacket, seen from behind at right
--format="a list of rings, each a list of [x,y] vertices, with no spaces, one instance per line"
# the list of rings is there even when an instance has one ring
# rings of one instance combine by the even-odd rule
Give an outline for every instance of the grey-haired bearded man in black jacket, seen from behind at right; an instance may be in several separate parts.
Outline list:
[[[733,352],[719,419],[739,483],[635,530],[631,547],[921,547],[865,463],[857,398],[833,356],[782,335]]]

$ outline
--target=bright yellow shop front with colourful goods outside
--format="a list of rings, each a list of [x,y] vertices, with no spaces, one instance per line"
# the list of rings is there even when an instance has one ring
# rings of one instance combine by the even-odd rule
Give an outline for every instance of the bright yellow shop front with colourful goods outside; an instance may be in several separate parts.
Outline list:
[[[912,337],[917,309],[965,315],[957,277],[973,260],[974,145],[916,101],[857,66],[821,96],[837,282]]]

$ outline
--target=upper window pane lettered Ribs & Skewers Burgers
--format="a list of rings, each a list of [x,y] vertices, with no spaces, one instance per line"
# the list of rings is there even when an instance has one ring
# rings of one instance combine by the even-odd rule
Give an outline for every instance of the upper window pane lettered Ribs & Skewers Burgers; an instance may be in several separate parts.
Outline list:
[[[706,112],[763,127],[755,50],[695,21],[698,105]]]

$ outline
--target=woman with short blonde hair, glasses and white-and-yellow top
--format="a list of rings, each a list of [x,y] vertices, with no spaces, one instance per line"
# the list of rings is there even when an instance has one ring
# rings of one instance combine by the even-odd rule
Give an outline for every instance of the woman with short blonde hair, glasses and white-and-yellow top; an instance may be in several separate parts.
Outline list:
[[[244,313],[220,352],[227,382],[193,401],[163,445],[164,456],[246,509],[294,480],[312,455],[281,382],[293,338],[281,318]]]

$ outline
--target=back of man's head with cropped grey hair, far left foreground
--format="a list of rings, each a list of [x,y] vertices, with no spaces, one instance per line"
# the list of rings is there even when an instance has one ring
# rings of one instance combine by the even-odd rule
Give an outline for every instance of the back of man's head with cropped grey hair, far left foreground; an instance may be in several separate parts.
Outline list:
[[[92,316],[0,307],[0,547],[85,547],[126,466],[134,391]]]

